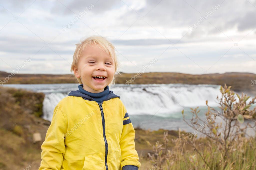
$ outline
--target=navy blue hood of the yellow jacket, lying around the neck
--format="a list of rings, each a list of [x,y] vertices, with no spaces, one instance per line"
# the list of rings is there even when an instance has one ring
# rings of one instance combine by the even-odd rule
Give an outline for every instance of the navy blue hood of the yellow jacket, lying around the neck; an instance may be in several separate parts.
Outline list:
[[[82,84],[80,84],[79,86],[82,86]],[[78,87],[79,87],[79,86],[78,86]],[[105,89],[106,89],[106,90],[109,90],[109,86],[106,86],[106,87],[104,88],[104,90],[105,90]],[[71,92],[68,94],[68,96],[82,97],[84,100],[95,101],[95,100],[94,100],[93,98],[91,98],[90,96],[81,93],[81,91],[80,91],[79,89],[76,90],[76,91],[71,91]],[[116,98],[116,97],[118,97],[119,99],[121,99],[120,96],[115,95],[115,94],[113,93],[113,91],[109,90],[109,95],[104,99],[104,101],[105,101],[105,100],[112,99],[112,98]]]

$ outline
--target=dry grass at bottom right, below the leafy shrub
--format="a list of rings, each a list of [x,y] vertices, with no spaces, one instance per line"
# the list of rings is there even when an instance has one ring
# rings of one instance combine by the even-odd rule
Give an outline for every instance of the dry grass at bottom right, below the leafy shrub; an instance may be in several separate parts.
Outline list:
[[[221,162],[223,156],[215,143],[211,147],[206,145],[206,138],[200,138],[194,141],[199,147],[199,152],[203,153],[209,166],[206,165],[201,155],[194,149],[190,148],[184,137],[177,138],[175,147],[172,150],[166,149],[164,145],[156,143],[154,145],[153,159],[140,157],[143,164],[140,169],[214,169],[214,170],[244,170],[256,169],[256,138],[241,137],[240,141],[233,143],[234,149],[225,162]],[[156,149],[158,148],[158,149]],[[160,152],[161,151],[161,152]],[[167,153],[165,153],[167,151]],[[152,155],[151,155],[152,156]],[[161,158],[160,158],[161,157]],[[162,161],[161,161],[162,160]],[[168,160],[168,161],[167,161]]]

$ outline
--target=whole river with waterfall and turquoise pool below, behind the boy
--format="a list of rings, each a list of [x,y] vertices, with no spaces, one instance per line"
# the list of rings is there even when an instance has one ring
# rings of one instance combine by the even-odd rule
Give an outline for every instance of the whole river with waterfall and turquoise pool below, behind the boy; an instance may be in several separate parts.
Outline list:
[[[78,90],[76,83],[3,86],[44,93],[42,118],[49,121],[58,102],[68,96],[70,91]],[[189,119],[192,115],[190,108],[199,106],[199,116],[204,120],[204,113],[207,111],[205,101],[208,100],[208,105],[218,110],[216,98],[221,96],[220,86],[209,84],[116,84],[110,90],[121,97],[134,127],[151,130],[181,128],[186,132],[191,132],[192,129],[183,121],[181,111],[184,109],[186,119]],[[248,102],[251,99],[252,97]]]

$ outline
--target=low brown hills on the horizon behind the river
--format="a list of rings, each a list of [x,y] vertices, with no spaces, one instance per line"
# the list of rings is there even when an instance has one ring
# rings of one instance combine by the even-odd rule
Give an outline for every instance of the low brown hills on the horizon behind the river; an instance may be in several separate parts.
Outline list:
[[[0,71],[0,81],[8,77],[10,73]],[[148,73],[122,73],[116,76],[115,83],[131,84],[218,84],[232,86],[232,89],[240,92],[252,92],[256,94],[256,74],[242,72],[210,73],[210,74],[185,74],[178,72],[148,72]],[[72,74],[15,74],[7,83],[35,84],[35,83],[78,83]]]

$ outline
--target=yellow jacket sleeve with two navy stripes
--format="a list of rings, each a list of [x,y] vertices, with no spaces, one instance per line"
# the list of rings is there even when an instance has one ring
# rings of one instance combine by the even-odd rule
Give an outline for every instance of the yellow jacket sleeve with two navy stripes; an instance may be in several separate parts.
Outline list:
[[[137,170],[141,166],[141,163],[138,161],[139,156],[135,150],[135,130],[124,105],[123,115],[123,130],[119,142],[122,155],[121,167],[123,170]]]

